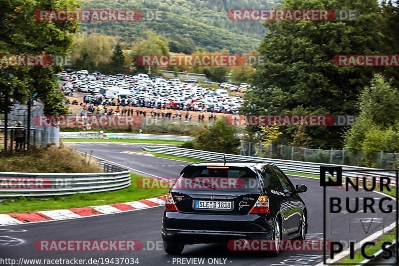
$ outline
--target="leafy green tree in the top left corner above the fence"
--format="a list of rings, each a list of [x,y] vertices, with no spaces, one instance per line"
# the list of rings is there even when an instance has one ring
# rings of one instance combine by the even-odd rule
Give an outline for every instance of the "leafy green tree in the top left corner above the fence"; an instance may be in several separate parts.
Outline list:
[[[35,21],[36,10],[75,9],[69,0],[2,0],[0,2],[0,50],[8,55],[66,55],[72,46],[78,22]],[[26,102],[34,93],[45,105],[46,114],[65,113],[63,95],[57,90],[55,74],[61,65],[0,67],[0,98]]]

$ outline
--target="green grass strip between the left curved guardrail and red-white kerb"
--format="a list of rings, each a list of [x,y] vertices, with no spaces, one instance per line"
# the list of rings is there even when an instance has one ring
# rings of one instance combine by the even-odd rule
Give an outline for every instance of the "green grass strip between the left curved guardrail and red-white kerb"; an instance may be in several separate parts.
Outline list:
[[[168,188],[144,189],[137,186],[137,182],[142,176],[130,174],[132,185],[129,188],[100,193],[80,193],[71,196],[55,196],[48,199],[39,198],[17,198],[6,199],[1,202],[1,214],[36,212],[46,210],[58,210],[79,208],[87,206],[106,205],[111,203],[124,203],[140,199],[148,199],[157,196],[163,196],[168,193]]]

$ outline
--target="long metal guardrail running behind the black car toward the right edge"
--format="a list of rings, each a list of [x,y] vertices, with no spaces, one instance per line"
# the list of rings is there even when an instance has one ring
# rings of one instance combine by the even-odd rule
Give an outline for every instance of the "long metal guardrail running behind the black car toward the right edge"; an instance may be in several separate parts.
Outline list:
[[[186,156],[197,159],[202,159],[204,161],[207,160],[223,160],[223,154],[217,152],[208,152],[201,150],[192,150],[192,149],[184,149],[177,147],[166,147],[166,146],[146,146],[141,148],[143,152],[157,152],[157,153],[167,153],[177,156]],[[353,171],[362,171],[362,175],[366,176],[368,180],[373,177],[389,177],[391,178],[391,184],[396,184],[396,173],[394,171],[391,172],[376,172],[378,169],[374,168],[366,168],[359,166],[349,166],[349,165],[335,165],[335,164],[322,164],[322,163],[310,163],[310,162],[301,162],[301,161],[290,161],[290,160],[281,160],[281,159],[269,159],[269,158],[261,158],[261,157],[252,157],[252,156],[243,156],[243,155],[235,155],[235,154],[225,154],[226,160],[230,161],[250,161],[250,162],[259,162],[259,163],[272,163],[278,166],[283,171],[288,172],[297,172],[297,173],[305,173],[305,174],[320,174],[320,166],[337,166],[342,167],[345,170],[353,170]],[[346,172],[346,176],[348,177],[358,177],[360,175],[359,172]]]

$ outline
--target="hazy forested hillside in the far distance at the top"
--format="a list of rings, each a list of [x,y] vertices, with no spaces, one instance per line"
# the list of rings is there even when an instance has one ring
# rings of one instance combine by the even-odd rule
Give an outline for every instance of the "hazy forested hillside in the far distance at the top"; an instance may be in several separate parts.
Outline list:
[[[259,46],[265,28],[260,21],[232,21],[230,9],[273,7],[268,0],[81,0],[83,9],[139,9],[141,21],[84,22],[87,32],[121,36],[123,41],[140,40],[148,29],[165,36],[173,52],[196,49],[244,53]],[[276,2],[279,2],[278,0]],[[163,20],[149,20],[155,11]]]

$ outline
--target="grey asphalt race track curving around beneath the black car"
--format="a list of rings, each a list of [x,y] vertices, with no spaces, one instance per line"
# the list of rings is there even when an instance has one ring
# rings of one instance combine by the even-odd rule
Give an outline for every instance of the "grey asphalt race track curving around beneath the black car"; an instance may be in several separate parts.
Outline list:
[[[132,171],[141,172],[143,175],[176,177],[182,168],[187,165],[187,163],[181,161],[121,153],[122,151],[139,151],[143,144],[76,143],[68,145],[81,152],[90,153],[93,151],[93,155],[96,157],[118,163],[130,168]],[[308,186],[308,192],[301,194],[308,208],[309,228],[307,238],[322,239],[323,190],[320,187],[320,181],[297,176],[291,176],[290,179],[294,184],[306,184]],[[343,191],[337,189],[334,193],[340,196]],[[373,195],[376,199],[381,198],[379,194],[374,193]],[[164,252],[161,244],[162,213],[163,208],[161,206],[74,220],[3,226],[0,227],[0,258],[16,260],[19,260],[19,258],[77,258],[86,260],[91,258],[138,258],[140,265],[146,266],[195,264],[194,261],[187,260],[178,264],[177,261],[174,261],[174,258],[204,258],[204,265],[208,265],[207,260],[209,258],[221,258],[221,262],[218,265],[231,266],[312,266],[319,264],[323,260],[322,251],[286,251],[280,253],[278,258],[267,258],[259,252],[229,251],[225,245],[221,244],[186,246],[182,255],[169,256]],[[345,223],[336,224],[335,232],[339,232],[340,239],[359,241],[395,221],[394,217],[389,217],[392,214],[387,214],[385,217],[378,213],[369,214],[369,216],[380,220],[387,218],[385,220],[388,222],[371,223],[368,234],[365,233],[364,226],[360,223],[352,226],[349,233]],[[364,217],[364,214],[359,217]],[[342,214],[342,221],[345,219],[347,219],[346,214]],[[38,252],[33,245],[39,240],[139,240],[143,243],[144,249],[137,252]],[[153,249],[157,245],[158,249]],[[214,264],[213,262],[212,265]]]

